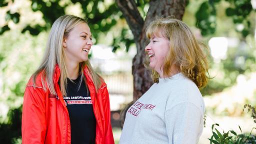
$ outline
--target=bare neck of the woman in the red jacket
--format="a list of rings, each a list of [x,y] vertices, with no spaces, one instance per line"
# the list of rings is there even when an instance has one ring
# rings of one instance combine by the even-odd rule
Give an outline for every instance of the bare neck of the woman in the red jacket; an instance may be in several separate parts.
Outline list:
[[[79,73],[79,63],[66,62],[68,78],[76,79]]]

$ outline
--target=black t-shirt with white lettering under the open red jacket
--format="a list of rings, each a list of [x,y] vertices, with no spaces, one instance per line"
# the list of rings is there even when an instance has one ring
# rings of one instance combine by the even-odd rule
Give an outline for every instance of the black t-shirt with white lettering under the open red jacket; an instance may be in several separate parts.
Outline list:
[[[91,144],[95,143],[96,119],[84,80],[78,89],[80,78],[81,75],[73,79],[73,82],[67,79],[67,95],[63,98],[71,124],[71,143]]]

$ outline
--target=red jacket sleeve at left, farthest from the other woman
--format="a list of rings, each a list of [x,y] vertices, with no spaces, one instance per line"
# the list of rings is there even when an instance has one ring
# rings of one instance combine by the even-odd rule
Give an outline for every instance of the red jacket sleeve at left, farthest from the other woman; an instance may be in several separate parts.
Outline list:
[[[22,143],[44,143],[46,133],[45,92],[26,86],[21,120]]]

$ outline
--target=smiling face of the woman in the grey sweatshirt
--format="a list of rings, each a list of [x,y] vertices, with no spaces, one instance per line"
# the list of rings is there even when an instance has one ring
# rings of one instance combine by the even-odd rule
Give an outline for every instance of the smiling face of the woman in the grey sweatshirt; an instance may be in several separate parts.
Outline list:
[[[145,51],[149,56],[149,67],[154,69],[162,77],[164,58],[169,51],[169,40],[160,32],[150,36],[150,42]]]

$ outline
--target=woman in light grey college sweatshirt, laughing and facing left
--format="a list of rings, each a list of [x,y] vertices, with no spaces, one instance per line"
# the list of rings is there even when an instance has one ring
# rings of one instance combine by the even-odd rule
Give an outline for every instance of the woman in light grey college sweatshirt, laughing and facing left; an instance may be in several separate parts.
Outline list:
[[[146,28],[145,47],[154,84],[127,110],[120,137],[125,143],[197,143],[207,82],[207,60],[188,26],[159,18]]]

